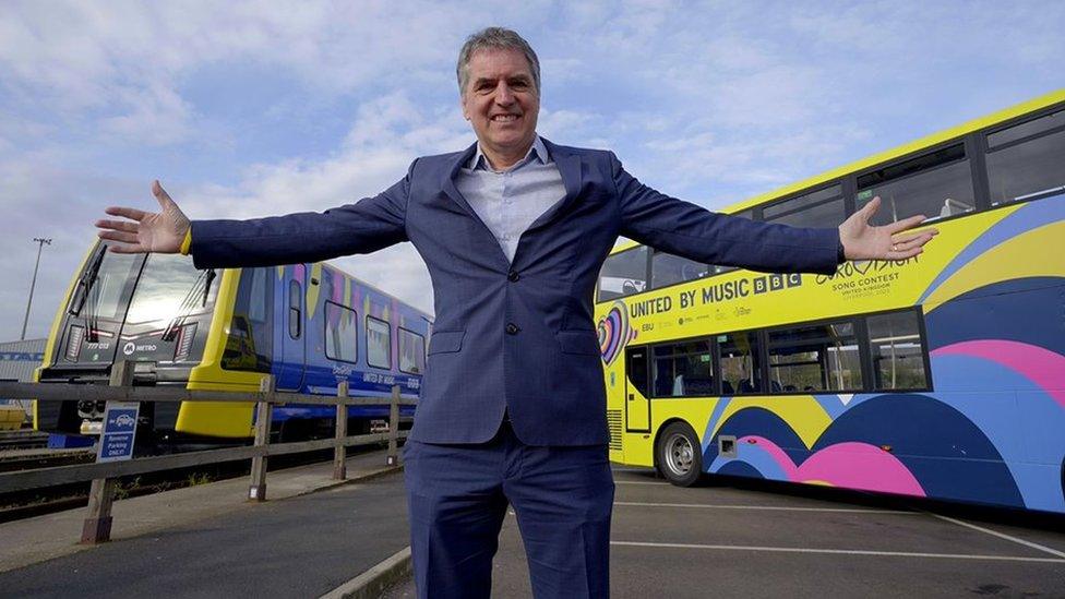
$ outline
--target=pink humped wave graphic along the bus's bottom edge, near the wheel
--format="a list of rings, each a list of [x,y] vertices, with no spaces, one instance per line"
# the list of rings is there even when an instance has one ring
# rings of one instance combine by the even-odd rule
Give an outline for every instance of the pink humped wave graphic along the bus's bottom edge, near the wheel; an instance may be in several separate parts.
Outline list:
[[[793,482],[824,481],[836,487],[925,496],[924,489],[906,465],[869,443],[837,443],[813,454],[801,466],[795,466],[783,450],[764,436],[744,436],[737,443],[743,447],[751,441],[771,457]]]

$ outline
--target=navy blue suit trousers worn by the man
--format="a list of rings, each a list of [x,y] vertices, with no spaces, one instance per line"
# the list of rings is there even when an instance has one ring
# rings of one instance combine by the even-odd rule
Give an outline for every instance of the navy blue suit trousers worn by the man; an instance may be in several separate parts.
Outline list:
[[[491,595],[507,505],[535,597],[609,596],[614,483],[606,445],[526,445],[504,421],[487,443],[408,441],[404,458],[418,597]]]

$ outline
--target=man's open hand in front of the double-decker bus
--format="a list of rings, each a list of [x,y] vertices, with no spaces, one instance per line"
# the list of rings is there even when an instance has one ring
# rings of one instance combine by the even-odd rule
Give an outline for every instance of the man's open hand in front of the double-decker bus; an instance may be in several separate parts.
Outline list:
[[[924,244],[940,232],[925,229],[900,235],[923,223],[924,215],[874,227],[869,220],[879,206],[881,199],[873,197],[872,202],[839,226],[839,240],[843,243],[847,260],[906,260],[923,252]]]

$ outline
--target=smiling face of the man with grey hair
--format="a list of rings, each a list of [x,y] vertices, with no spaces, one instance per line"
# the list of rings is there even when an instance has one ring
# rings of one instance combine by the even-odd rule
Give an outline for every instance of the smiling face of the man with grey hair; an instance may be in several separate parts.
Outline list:
[[[467,63],[463,116],[495,168],[525,157],[536,139],[540,94],[529,63],[518,50],[484,49]]]

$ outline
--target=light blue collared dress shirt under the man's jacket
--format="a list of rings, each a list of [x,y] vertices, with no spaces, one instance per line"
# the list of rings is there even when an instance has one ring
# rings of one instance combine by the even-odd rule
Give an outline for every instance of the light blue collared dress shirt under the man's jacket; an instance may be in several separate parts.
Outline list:
[[[506,260],[514,262],[522,233],[537,217],[565,197],[559,167],[540,136],[520,161],[494,170],[477,144],[477,154],[458,171],[455,187],[495,236]]]

